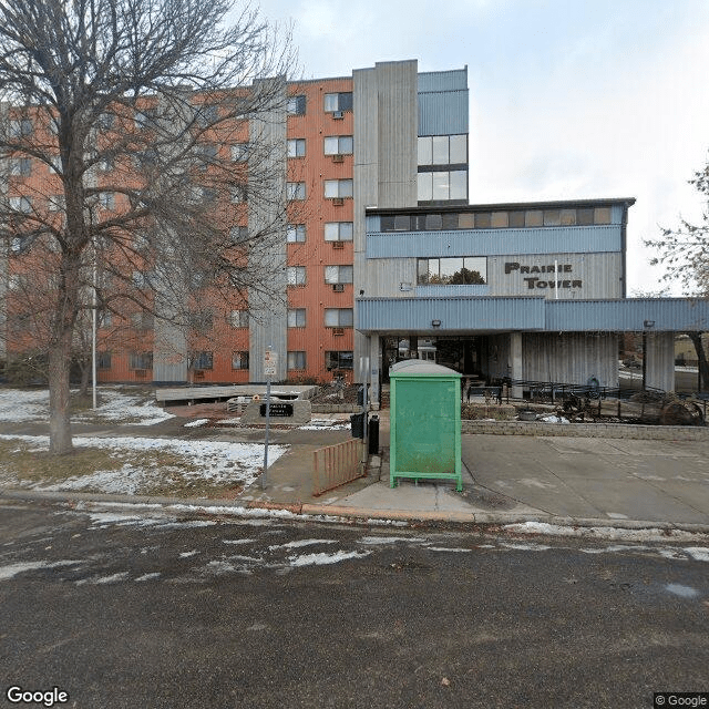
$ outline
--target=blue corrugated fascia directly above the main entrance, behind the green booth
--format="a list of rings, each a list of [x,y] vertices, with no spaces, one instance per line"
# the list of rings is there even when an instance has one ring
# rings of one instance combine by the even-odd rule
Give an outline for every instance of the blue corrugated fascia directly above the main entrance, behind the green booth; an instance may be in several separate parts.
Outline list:
[[[356,301],[357,329],[403,332],[535,330],[543,298],[372,298]],[[440,320],[433,327],[433,320]]]

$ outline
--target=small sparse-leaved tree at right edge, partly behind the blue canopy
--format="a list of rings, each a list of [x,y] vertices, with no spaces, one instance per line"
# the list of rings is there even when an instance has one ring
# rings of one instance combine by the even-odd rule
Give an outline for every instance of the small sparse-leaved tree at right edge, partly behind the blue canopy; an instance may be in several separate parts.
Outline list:
[[[689,181],[703,199],[709,198],[709,164]],[[688,295],[709,298],[709,205],[699,225],[686,219],[675,229],[664,228],[661,236],[646,239],[645,245],[656,249],[650,264],[664,266],[661,280],[670,284],[679,281]],[[702,389],[709,389],[709,352],[707,352],[701,332],[687,332],[695,346],[699,362],[699,377]]]

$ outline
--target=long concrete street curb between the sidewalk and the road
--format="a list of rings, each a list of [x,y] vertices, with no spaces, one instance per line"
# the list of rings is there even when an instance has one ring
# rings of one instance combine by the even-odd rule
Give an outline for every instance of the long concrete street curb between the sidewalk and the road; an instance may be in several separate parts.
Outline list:
[[[339,517],[353,522],[367,522],[369,520],[390,520],[409,523],[438,523],[500,527],[506,525],[520,525],[525,523],[544,523],[555,527],[571,527],[574,530],[626,530],[640,532],[656,530],[666,532],[668,536],[672,532],[687,532],[690,534],[709,535],[709,525],[681,522],[653,522],[649,520],[605,520],[600,517],[562,517],[552,514],[520,514],[505,512],[440,512],[414,510],[373,510],[368,507],[348,507],[345,505],[318,505],[311,503],[278,503],[253,500],[244,504],[236,500],[205,500],[204,497],[164,497],[151,495],[111,495],[81,492],[54,492],[35,490],[17,490],[11,487],[0,489],[0,500],[27,500],[63,503],[111,503],[132,504],[136,506],[161,507],[199,507],[208,513],[209,508],[224,511],[230,508],[234,514],[242,513],[247,516],[248,511],[263,510],[264,512],[289,512],[298,516],[311,517]],[[538,534],[543,532],[538,531]]]

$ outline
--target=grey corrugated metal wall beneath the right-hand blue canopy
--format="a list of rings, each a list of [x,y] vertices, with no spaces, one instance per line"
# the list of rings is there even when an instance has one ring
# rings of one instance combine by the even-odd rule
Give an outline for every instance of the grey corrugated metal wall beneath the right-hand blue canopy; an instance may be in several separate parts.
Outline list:
[[[618,336],[615,333],[525,332],[522,347],[523,379],[586,384],[595,377],[602,387],[618,386]]]

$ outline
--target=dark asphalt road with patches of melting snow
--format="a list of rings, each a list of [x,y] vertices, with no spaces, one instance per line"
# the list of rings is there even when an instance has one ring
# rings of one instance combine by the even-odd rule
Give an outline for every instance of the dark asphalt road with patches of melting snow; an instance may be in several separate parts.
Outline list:
[[[653,707],[709,549],[0,505],[0,677],[58,707]]]

